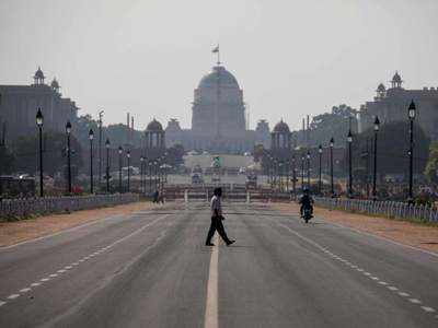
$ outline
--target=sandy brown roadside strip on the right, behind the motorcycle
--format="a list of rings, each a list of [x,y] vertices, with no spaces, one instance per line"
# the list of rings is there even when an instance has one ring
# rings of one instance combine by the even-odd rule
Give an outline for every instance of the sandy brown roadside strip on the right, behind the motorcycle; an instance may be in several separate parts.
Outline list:
[[[281,212],[299,213],[296,203],[273,203]],[[387,218],[367,216],[343,211],[315,208],[315,215],[336,224],[371,233],[401,244],[418,247],[438,254],[438,227],[399,221]]]

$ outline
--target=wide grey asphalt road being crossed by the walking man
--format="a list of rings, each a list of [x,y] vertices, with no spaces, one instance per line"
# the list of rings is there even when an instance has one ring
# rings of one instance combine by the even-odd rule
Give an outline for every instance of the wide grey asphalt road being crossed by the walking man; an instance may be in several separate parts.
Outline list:
[[[0,327],[438,327],[438,257],[316,218],[205,202],[0,249]]]

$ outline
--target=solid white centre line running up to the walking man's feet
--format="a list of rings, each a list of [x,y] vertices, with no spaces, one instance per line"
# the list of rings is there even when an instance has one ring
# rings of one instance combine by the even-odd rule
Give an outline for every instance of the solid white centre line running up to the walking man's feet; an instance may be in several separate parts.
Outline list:
[[[219,238],[215,237],[216,246],[211,249],[210,268],[208,270],[207,304],[205,313],[205,328],[218,328],[218,267],[219,267]]]

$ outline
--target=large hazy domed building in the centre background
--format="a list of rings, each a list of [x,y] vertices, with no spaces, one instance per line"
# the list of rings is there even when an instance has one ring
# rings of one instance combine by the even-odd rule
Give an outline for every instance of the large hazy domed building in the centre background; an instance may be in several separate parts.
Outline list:
[[[265,143],[269,140],[266,121],[256,131],[246,128],[243,91],[220,63],[200,79],[194,91],[192,129],[181,129],[173,118],[165,133],[168,145],[182,143],[186,150],[215,153],[253,151],[257,143],[268,147]]]

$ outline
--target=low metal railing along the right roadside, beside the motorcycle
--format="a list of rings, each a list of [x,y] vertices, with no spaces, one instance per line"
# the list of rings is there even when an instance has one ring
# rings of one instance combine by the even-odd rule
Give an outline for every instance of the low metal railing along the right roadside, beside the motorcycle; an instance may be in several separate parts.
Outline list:
[[[412,221],[438,222],[436,207],[410,204],[397,201],[372,201],[342,198],[314,198],[315,204],[333,210],[344,210],[369,215],[405,219]]]

